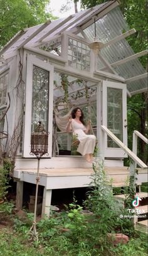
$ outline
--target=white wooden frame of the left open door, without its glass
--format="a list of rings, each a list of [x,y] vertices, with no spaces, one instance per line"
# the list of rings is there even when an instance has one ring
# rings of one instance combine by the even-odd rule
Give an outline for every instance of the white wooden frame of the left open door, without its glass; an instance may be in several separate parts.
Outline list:
[[[26,99],[25,99],[25,116],[24,116],[24,141],[23,157],[34,157],[29,153],[31,151],[31,109],[32,109],[32,88],[33,88],[33,65],[43,68],[50,72],[49,81],[49,105],[48,105],[48,156],[52,154],[52,134],[53,134],[53,66],[49,63],[38,59],[36,56],[27,55],[26,68]]]

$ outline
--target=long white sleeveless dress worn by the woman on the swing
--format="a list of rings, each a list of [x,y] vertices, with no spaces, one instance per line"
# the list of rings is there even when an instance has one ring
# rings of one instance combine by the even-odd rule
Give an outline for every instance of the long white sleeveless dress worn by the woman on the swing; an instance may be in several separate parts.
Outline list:
[[[80,152],[82,156],[85,156],[85,154],[93,154],[96,137],[94,135],[85,134],[84,131],[86,131],[87,128],[82,123],[79,124],[75,119],[72,119],[71,127],[73,134],[76,134],[78,141],[80,141],[77,152]]]

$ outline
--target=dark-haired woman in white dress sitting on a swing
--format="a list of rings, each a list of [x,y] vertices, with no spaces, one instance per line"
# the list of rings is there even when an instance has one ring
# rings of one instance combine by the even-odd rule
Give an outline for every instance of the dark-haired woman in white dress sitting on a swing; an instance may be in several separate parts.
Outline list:
[[[85,156],[88,162],[92,162],[93,151],[95,149],[96,137],[94,135],[87,134],[90,130],[90,120],[88,121],[87,127],[83,121],[83,112],[79,107],[76,107],[71,112],[71,117],[69,119],[66,131],[70,132],[72,130],[73,134],[77,136],[78,145],[77,151]]]

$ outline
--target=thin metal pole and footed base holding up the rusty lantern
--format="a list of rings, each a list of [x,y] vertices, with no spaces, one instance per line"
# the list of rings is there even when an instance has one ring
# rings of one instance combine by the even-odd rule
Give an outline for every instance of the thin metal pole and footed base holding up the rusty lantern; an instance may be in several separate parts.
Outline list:
[[[37,209],[37,202],[38,202],[38,184],[40,182],[40,176],[39,176],[40,159],[41,157],[38,156],[38,171],[36,174],[36,196],[35,196],[35,203],[34,203],[34,220],[33,220],[33,225],[31,226],[28,232],[28,234],[31,235],[31,238],[33,238],[33,240],[36,240],[36,241],[38,241],[38,232],[36,232],[36,209]]]

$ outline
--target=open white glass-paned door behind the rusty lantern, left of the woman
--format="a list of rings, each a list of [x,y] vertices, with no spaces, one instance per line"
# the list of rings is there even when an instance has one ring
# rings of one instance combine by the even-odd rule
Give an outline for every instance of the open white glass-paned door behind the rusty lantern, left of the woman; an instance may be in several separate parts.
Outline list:
[[[53,66],[28,55],[26,69],[26,103],[24,115],[23,157],[29,155],[31,132],[41,121],[48,136],[48,157],[51,157],[53,129]]]

